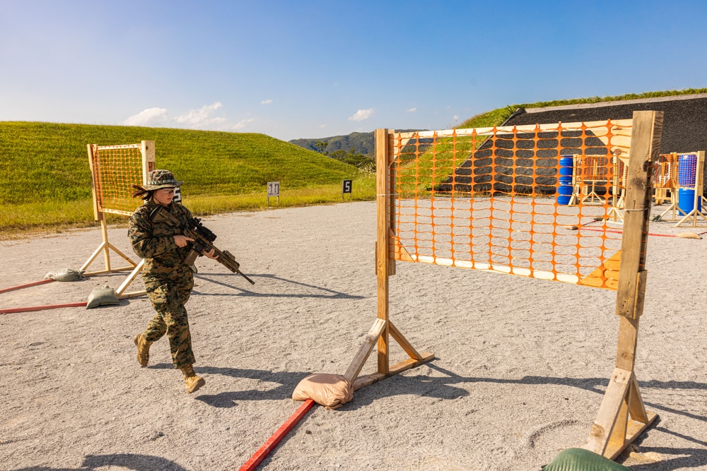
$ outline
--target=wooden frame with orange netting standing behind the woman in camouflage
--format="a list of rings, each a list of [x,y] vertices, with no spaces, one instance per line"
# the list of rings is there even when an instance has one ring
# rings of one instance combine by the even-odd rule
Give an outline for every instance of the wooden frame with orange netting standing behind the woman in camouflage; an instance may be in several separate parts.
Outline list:
[[[93,217],[100,221],[101,238],[103,242],[93,251],[93,254],[83,263],[81,271],[87,276],[99,275],[103,273],[117,273],[131,270],[127,280],[116,290],[118,297],[133,297],[145,294],[145,291],[125,293],[127,286],[136,278],[142,270],[144,261],[135,263],[122,251],[116,249],[108,240],[108,230],[105,221],[105,214],[117,214],[129,216],[139,206],[132,200],[131,184],[147,184],[148,174],[156,168],[155,141],[141,141],[139,144],[127,145],[96,145],[88,144],[88,164],[91,172],[91,192],[93,196]],[[130,166],[130,172],[125,172],[125,165],[115,160],[105,160],[101,157],[104,153],[130,154],[139,152],[140,169],[135,163]],[[132,168],[135,167],[135,168]],[[134,205],[134,208],[132,208]],[[114,251],[117,256],[127,261],[129,265],[113,268],[110,261],[110,251]],[[103,270],[86,272],[88,267],[103,253]]]

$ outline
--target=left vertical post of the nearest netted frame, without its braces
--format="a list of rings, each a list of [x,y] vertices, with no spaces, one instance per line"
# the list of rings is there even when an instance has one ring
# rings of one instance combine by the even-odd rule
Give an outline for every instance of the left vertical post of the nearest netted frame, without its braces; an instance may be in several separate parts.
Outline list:
[[[378,338],[378,373],[388,374],[388,230],[390,229],[390,166],[388,162],[388,130],[375,130],[375,167],[377,230],[375,271],[378,276],[378,318],[385,322]]]

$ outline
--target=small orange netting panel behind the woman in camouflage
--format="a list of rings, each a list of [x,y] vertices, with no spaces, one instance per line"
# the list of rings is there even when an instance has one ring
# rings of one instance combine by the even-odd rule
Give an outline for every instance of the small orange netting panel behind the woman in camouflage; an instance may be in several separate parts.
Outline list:
[[[132,184],[142,184],[140,144],[93,145],[93,186],[103,213],[132,215],[142,203],[132,197]]]

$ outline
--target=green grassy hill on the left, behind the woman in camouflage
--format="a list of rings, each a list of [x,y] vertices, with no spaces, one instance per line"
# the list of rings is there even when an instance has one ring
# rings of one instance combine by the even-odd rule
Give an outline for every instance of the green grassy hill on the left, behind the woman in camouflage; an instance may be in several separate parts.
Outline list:
[[[342,179],[356,180],[354,198],[375,198],[374,176],[263,134],[4,121],[0,229],[93,225],[86,144],[143,140],[197,214],[263,208],[267,181],[281,182],[282,205],[341,201]]]

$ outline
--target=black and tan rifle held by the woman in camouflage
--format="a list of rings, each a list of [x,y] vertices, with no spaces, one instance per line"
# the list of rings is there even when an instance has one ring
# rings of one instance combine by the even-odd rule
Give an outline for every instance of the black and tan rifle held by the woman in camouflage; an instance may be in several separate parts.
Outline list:
[[[175,217],[167,208],[165,208],[165,206],[162,205],[152,211],[150,214],[150,219],[152,222],[166,222],[168,225],[173,227],[181,226],[180,220],[178,220],[177,217]],[[211,230],[207,227],[204,227],[199,218],[192,217],[192,219],[187,222],[187,227],[184,229],[183,235],[194,239],[194,242],[192,242],[192,249],[189,251],[189,254],[187,254],[187,258],[185,258],[185,263],[187,265],[193,265],[197,257],[201,255],[201,252],[209,252],[211,249],[214,249],[214,254],[218,255],[218,258],[216,258],[218,263],[221,263],[221,265],[225,266],[233,273],[238,273],[238,275],[241,275],[243,278],[248,280],[251,285],[255,285],[255,281],[251,280],[242,271],[240,271],[240,263],[235,261],[235,258],[233,258],[233,255],[231,255],[229,251],[221,251],[214,246],[213,242],[216,240],[216,234],[211,232]]]

